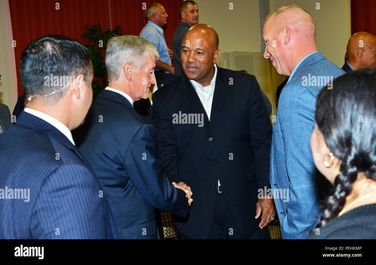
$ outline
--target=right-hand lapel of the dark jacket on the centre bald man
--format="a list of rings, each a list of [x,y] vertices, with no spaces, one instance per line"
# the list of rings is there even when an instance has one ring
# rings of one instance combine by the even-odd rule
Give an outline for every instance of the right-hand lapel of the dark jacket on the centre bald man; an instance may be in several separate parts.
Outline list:
[[[209,132],[213,128],[215,121],[223,110],[223,106],[226,102],[227,95],[230,88],[227,86],[228,80],[222,73],[222,69],[217,67],[217,79],[215,80],[215,89],[212,102],[212,109],[210,113]]]

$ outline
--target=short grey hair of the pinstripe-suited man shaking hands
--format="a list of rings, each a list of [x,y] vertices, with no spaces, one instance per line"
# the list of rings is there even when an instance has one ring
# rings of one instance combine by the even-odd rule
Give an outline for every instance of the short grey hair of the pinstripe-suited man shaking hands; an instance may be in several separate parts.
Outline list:
[[[139,36],[118,36],[108,41],[106,48],[106,69],[108,81],[119,79],[124,65],[129,62],[137,70],[144,67],[144,54],[150,53],[159,59],[159,52],[155,45],[147,39]]]

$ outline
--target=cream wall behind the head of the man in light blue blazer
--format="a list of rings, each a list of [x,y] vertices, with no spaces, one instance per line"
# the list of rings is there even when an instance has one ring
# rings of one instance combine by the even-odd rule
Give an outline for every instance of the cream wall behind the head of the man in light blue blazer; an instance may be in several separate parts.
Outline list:
[[[296,3],[315,20],[317,48],[342,67],[347,41],[351,34],[350,0],[261,0],[269,2],[270,11]],[[199,23],[212,26],[218,33],[223,51],[261,51],[259,0],[197,0]],[[320,3],[320,10],[316,3]],[[229,10],[233,3],[233,10]],[[263,18],[262,18],[263,19]],[[261,20],[262,20],[261,19]]]

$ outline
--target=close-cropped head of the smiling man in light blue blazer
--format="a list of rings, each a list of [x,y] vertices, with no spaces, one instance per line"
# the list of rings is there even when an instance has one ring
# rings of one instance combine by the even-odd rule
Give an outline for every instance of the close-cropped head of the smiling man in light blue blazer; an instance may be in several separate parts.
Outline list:
[[[315,21],[299,5],[277,8],[264,18],[262,26],[264,58],[270,59],[279,74],[289,76],[305,56],[317,51]]]

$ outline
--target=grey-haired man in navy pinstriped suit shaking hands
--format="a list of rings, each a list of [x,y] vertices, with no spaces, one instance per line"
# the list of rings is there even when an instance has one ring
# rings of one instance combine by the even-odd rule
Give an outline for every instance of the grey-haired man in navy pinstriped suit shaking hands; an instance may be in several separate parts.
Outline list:
[[[192,201],[190,188],[181,191],[167,179],[155,129],[133,109],[155,83],[158,57],[146,39],[111,38],[106,49],[108,87],[94,100],[74,138],[103,185],[122,239],[157,238],[154,208],[186,217]]]

